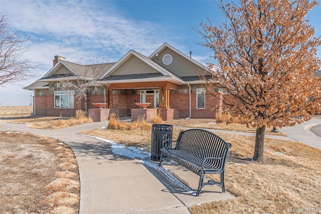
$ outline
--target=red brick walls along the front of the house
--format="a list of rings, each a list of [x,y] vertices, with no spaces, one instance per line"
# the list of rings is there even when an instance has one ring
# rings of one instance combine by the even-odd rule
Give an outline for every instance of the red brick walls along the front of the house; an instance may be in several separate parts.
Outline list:
[[[223,96],[223,95],[222,95]],[[55,109],[54,108],[54,95],[36,96],[36,114],[47,116],[74,116],[76,110],[84,110],[84,100],[76,100],[74,102],[74,109]],[[129,116],[132,114],[132,109],[139,109],[135,102],[139,102],[139,94],[114,94],[113,95],[113,108],[110,109],[110,114],[115,113],[118,116]],[[88,109],[95,109],[92,105],[93,102],[104,102],[104,95],[88,95],[87,106]],[[222,108],[222,101],[218,98],[205,95],[206,109],[196,108],[196,93],[191,94],[191,110],[192,118],[215,118],[216,110]],[[170,94],[170,110],[160,110],[162,119],[172,120],[178,118],[190,117],[189,110],[189,94],[188,93],[171,93]],[[135,119],[137,116],[132,116]]]

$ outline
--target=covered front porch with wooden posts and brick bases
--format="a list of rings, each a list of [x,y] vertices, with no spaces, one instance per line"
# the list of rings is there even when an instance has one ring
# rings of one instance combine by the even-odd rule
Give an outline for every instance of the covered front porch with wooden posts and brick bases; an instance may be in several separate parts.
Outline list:
[[[170,89],[178,90],[179,85],[168,82],[127,82],[105,84],[106,108],[119,116],[131,116],[131,120],[145,118],[158,113],[164,121],[179,118],[179,113],[170,107]],[[146,109],[137,102],[149,102]]]

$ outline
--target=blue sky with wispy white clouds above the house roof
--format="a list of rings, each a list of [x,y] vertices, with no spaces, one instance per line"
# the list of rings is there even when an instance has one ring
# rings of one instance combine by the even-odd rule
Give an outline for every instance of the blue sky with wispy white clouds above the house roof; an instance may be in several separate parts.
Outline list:
[[[29,35],[24,58],[41,64],[35,78],[0,87],[1,105],[29,105],[32,91],[25,87],[46,74],[55,55],[67,61],[92,63],[93,57],[116,62],[129,50],[149,56],[164,42],[199,61],[211,55],[197,45],[193,30],[208,16],[223,21],[215,1],[8,1],[0,0],[12,32]],[[321,35],[321,6],[309,13],[316,35]],[[318,53],[321,58],[321,52]]]

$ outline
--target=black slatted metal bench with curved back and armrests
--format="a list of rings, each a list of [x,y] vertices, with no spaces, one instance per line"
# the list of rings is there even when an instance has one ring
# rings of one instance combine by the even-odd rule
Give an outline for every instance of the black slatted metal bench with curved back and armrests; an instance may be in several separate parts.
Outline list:
[[[172,142],[176,142],[175,148],[172,148]],[[158,166],[161,166],[164,157],[169,157],[200,175],[196,196],[200,195],[201,189],[206,185],[218,184],[225,192],[224,167],[230,148],[230,143],[226,143],[219,136],[206,130],[181,131],[176,141],[163,142]],[[221,182],[209,180],[203,183],[205,174],[221,174]]]

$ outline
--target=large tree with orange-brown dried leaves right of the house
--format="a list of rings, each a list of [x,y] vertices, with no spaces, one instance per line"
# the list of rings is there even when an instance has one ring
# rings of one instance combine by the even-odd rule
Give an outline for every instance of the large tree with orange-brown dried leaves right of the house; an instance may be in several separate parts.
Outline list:
[[[240,0],[218,3],[226,19],[220,27],[201,23],[201,45],[211,49],[209,88],[219,82],[223,100],[243,124],[256,128],[253,159],[263,162],[265,127],[294,126],[320,112],[319,69],[314,37],[306,15],[316,1]],[[211,90],[209,90],[211,92]],[[215,94],[213,94],[215,95]]]

